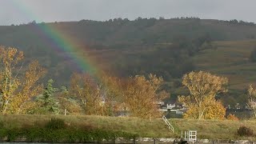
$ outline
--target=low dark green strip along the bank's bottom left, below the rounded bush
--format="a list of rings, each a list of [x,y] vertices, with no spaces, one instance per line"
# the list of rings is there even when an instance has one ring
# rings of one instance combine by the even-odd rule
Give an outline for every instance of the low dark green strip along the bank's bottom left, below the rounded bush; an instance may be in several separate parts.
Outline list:
[[[116,138],[137,138],[137,134],[109,130],[48,129],[26,127],[23,129],[0,129],[0,138],[14,142],[17,138],[26,138],[26,142],[101,142],[114,141]]]

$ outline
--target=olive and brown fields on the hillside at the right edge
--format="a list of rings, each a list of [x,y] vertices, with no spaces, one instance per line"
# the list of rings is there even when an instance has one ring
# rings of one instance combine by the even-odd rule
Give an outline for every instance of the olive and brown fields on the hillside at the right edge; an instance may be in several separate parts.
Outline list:
[[[197,70],[229,78],[231,90],[245,90],[256,84],[256,63],[250,62],[255,40],[214,42],[216,49],[203,50],[194,57]]]

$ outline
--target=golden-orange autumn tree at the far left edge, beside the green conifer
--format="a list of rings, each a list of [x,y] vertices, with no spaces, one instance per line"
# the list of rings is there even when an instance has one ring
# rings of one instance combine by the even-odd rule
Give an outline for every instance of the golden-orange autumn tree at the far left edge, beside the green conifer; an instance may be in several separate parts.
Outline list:
[[[23,114],[33,107],[31,98],[40,94],[42,85],[39,78],[46,70],[39,66],[37,61],[31,62],[28,69],[22,67],[24,54],[12,47],[0,47],[0,111],[2,114]],[[24,74],[24,71],[25,74]]]

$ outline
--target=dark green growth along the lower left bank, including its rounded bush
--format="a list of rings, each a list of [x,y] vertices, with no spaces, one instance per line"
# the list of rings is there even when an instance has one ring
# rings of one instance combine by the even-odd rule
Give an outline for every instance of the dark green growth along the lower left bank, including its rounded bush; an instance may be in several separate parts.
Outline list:
[[[137,137],[122,131],[70,127],[58,118],[52,118],[44,126],[0,128],[2,142],[114,142],[117,138],[130,141]]]

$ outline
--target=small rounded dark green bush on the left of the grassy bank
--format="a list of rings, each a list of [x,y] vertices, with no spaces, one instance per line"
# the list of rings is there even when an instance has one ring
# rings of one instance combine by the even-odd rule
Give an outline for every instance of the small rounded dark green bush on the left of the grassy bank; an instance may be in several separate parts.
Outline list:
[[[50,130],[65,129],[66,123],[61,118],[51,118],[50,121],[46,123],[46,128]]]

